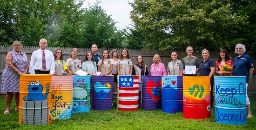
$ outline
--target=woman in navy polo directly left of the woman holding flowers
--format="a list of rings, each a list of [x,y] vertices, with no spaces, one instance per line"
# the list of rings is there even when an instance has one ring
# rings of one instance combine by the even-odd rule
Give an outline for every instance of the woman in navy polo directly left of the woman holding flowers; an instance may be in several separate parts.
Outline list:
[[[209,76],[210,78],[210,84],[211,84],[211,90],[210,90],[210,97],[211,97],[211,111],[212,111],[212,105],[213,105],[213,84],[214,84],[214,78],[213,73],[215,71],[215,63],[212,59],[209,58],[209,51],[206,49],[202,50],[202,58],[203,60],[199,63],[199,72],[201,76]]]

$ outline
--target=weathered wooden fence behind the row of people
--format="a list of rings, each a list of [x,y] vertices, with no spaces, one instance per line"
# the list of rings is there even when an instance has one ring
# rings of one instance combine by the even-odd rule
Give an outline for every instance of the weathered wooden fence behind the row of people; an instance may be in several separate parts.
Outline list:
[[[27,54],[27,58],[30,61],[31,55],[35,50],[38,50],[39,47],[34,47],[34,46],[23,46],[21,51]],[[59,49],[58,47],[47,47],[48,50],[54,52],[54,50]],[[60,48],[62,50],[63,53],[63,58],[66,61],[71,54],[71,50],[72,48]],[[102,51],[103,50],[108,50],[108,52],[110,53],[110,51],[112,49],[102,49],[100,48],[98,50],[98,54],[102,55]],[[5,58],[7,56],[8,52],[13,51],[13,47],[12,46],[0,46],[0,84],[2,83],[2,73],[5,69],[6,66],[6,61]],[[81,61],[83,60],[85,53],[91,51],[90,48],[78,48],[78,55],[77,58],[80,59]],[[117,49],[117,51],[119,52],[119,55],[121,54],[121,49]],[[145,62],[145,64],[148,66],[148,71],[150,70],[150,66],[153,64],[153,57],[155,54],[159,54],[162,63],[165,65],[166,69],[167,69],[167,65],[168,62],[170,62],[171,59],[171,53],[173,52],[172,50],[133,50],[133,49],[128,49],[130,58],[133,62],[133,64],[136,61],[136,58],[138,55],[141,55],[143,57],[143,60]],[[187,56],[186,52],[182,52],[182,51],[176,51],[178,54],[178,59],[182,60],[182,58]],[[199,62],[202,61],[202,52],[193,52],[193,55],[199,58]],[[232,60],[234,60],[234,57],[236,57],[236,54],[234,52],[229,52],[229,56],[231,57]],[[210,58],[213,59],[215,62],[218,59],[218,52],[210,52]],[[251,57],[253,64],[256,65],[256,57]],[[199,75],[199,72],[197,73],[197,75]],[[253,76],[251,79],[251,84],[249,84],[248,86],[248,90],[247,90],[248,95],[256,95],[256,70],[253,72]],[[0,94],[4,94],[3,92],[0,92]]]

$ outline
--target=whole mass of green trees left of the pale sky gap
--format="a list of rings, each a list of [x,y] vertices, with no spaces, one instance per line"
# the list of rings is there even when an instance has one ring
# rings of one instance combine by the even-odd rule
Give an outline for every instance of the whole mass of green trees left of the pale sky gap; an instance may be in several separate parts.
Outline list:
[[[48,46],[121,48],[124,32],[117,30],[96,0],[81,9],[84,0],[1,0],[0,44],[37,46],[46,38]]]

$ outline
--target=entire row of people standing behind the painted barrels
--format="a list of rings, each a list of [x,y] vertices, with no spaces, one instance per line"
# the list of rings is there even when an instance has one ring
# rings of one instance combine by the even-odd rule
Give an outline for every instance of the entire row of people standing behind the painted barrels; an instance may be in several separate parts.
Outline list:
[[[6,68],[2,74],[2,85],[1,91],[7,92],[6,95],[6,110],[4,114],[8,114],[10,111],[10,104],[15,93],[15,110],[19,110],[19,81],[20,74],[62,74],[74,73],[80,69],[87,72],[89,75],[96,75],[96,71],[101,72],[101,75],[113,75],[114,81],[117,83],[117,75],[139,75],[139,98],[141,97],[141,76],[166,76],[166,75],[179,75],[179,76],[196,76],[196,71],[199,70],[201,76],[209,76],[211,84],[211,108],[213,105],[213,85],[214,85],[214,72],[218,76],[246,76],[246,90],[253,72],[253,63],[251,58],[245,54],[245,46],[242,44],[236,45],[235,53],[238,55],[234,59],[234,64],[229,58],[229,54],[225,49],[221,49],[219,52],[218,60],[216,63],[209,58],[209,51],[202,50],[201,62],[198,58],[193,56],[193,47],[188,46],[186,52],[187,57],[183,58],[182,61],[178,60],[177,53],[172,52],[172,61],[168,63],[166,71],[165,65],[161,62],[161,58],[158,54],[153,57],[153,64],[150,66],[148,71],[147,65],[145,65],[143,57],[137,56],[135,64],[132,63],[129,52],[127,49],[121,50],[121,55],[116,49],[113,49],[110,53],[108,50],[102,52],[102,57],[98,54],[97,45],[93,44],[91,47],[92,52],[86,52],[86,55],[81,62],[77,59],[78,50],[73,48],[71,50],[70,58],[63,59],[63,53],[61,49],[56,49],[53,52],[46,49],[47,40],[40,39],[40,49],[32,53],[30,64],[27,59],[27,55],[21,52],[21,43],[19,41],[13,42],[13,51],[8,52],[6,57]],[[184,68],[186,65],[196,66],[195,73],[186,74]],[[222,70],[223,66],[229,66],[228,70]],[[12,82],[10,82],[12,81]],[[139,99],[140,100],[140,99]],[[252,117],[250,111],[249,98],[246,94],[246,104],[248,117]]]

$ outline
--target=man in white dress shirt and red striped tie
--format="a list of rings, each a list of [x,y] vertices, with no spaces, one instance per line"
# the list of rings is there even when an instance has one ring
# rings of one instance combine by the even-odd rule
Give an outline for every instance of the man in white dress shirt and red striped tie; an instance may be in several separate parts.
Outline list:
[[[40,39],[39,42],[40,49],[32,53],[29,72],[30,74],[54,74],[54,55],[53,52],[46,49],[47,40]],[[43,68],[42,55],[45,53],[45,64],[46,68]]]

